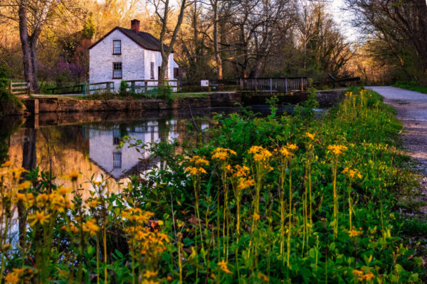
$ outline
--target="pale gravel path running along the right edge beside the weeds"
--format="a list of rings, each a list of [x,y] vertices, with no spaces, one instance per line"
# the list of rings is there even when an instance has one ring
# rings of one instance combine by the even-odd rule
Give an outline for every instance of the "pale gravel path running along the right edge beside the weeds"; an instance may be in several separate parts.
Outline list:
[[[427,94],[395,87],[366,87],[384,97],[386,104],[396,108],[397,119],[404,124],[404,148],[416,162],[416,171],[421,175],[420,213],[427,213]]]

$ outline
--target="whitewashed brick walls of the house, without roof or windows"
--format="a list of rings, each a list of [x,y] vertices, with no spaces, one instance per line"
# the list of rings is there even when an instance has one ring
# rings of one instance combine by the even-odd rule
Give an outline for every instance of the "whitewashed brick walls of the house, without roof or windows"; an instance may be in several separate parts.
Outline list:
[[[122,53],[113,55],[113,40],[121,40]],[[122,62],[122,79],[112,79],[113,62]],[[159,51],[146,50],[119,30],[107,35],[100,43],[89,51],[89,82],[114,82],[115,91],[120,88],[122,80],[152,80],[151,62],[154,63],[154,80],[159,80],[159,66],[162,64],[162,55]],[[178,65],[174,61],[174,54],[169,55],[167,78],[174,78],[174,68]],[[157,82],[149,85],[157,85]],[[176,86],[176,84],[173,84]]]

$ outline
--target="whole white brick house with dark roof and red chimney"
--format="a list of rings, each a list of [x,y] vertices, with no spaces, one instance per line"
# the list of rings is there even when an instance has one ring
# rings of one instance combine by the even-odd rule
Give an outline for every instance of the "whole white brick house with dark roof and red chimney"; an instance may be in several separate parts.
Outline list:
[[[115,27],[90,46],[89,83],[114,82],[117,92],[122,80],[159,80],[161,64],[159,40],[139,31],[139,21],[132,20],[130,29]],[[165,79],[177,76],[178,65],[171,53]]]

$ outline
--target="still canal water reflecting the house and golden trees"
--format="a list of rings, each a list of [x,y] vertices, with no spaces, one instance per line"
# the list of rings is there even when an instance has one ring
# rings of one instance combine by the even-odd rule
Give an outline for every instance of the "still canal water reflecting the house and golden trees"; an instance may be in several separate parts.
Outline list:
[[[268,107],[255,111],[268,113]],[[56,183],[71,187],[62,175],[77,170],[83,198],[92,185],[88,180],[107,179],[112,192],[120,192],[132,173],[147,173],[159,161],[148,151],[137,151],[125,143],[124,136],[142,143],[179,142],[196,138],[196,133],[209,128],[214,113],[230,114],[240,109],[193,109],[149,112],[144,114],[39,114],[27,119],[8,117],[0,121],[0,162],[10,160],[16,167],[39,168],[56,176]]]

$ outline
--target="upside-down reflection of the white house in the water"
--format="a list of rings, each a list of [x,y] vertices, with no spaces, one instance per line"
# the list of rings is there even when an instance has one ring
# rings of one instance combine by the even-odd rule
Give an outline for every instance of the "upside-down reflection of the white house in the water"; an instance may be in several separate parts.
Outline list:
[[[137,126],[126,126],[125,129],[119,126],[112,129],[90,128],[89,158],[116,180],[132,173],[147,173],[154,165],[158,165],[158,159],[150,158],[149,151],[138,152],[137,147],[129,147],[128,143],[122,148],[118,146],[123,136],[130,136],[142,144],[159,142],[161,138],[177,138],[176,120],[166,121],[165,124],[169,126],[167,133],[159,133],[159,121],[144,121]]]

